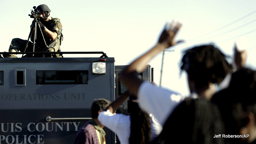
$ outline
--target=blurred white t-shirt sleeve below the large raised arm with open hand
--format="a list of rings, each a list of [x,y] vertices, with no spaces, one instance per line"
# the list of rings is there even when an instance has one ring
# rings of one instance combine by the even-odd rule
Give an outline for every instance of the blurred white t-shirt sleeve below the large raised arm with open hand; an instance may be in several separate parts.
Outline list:
[[[138,91],[138,103],[142,110],[152,113],[160,125],[164,125],[172,111],[184,97],[170,90],[156,87],[144,81]]]

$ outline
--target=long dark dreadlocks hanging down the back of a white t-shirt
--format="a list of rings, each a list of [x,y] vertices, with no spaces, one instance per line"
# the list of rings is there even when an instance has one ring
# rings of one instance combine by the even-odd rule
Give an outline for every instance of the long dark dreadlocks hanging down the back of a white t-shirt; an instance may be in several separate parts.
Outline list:
[[[134,104],[131,117],[130,144],[151,143],[150,117],[147,112],[141,110],[138,104]]]

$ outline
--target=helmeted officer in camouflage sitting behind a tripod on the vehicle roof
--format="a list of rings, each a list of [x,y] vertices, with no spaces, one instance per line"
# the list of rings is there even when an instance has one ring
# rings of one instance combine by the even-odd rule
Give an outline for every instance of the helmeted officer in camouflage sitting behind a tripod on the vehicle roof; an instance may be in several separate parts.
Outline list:
[[[34,7],[35,8],[35,7]],[[31,10],[32,11],[32,10]],[[33,42],[28,42],[27,40],[22,40],[20,38],[12,39],[12,42],[9,47],[9,52],[57,52],[60,51],[60,44],[63,38],[61,34],[62,25],[60,23],[60,19],[50,17],[51,10],[45,4],[41,4],[36,7],[35,11],[40,12],[41,17],[35,18],[32,22],[31,35],[30,40],[35,42],[35,46],[33,46]],[[31,16],[30,16],[31,17]],[[36,20],[38,19],[38,20]],[[39,23],[36,29],[36,40],[34,41],[34,23]],[[40,31],[41,29],[41,31]],[[9,54],[5,57],[17,57],[16,54]],[[26,55],[26,57],[31,57]],[[59,54],[39,54],[34,57],[62,57]]]

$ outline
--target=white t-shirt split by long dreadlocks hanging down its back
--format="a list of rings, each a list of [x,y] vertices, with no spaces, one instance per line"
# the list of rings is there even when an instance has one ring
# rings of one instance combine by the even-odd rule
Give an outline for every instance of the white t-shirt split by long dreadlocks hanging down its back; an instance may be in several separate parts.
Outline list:
[[[161,132],[162,126],[152,114],[149,114],[151,122],[151,138],[154,140]],[[113,114],[109,110],[101,111],[98,120],[111,131],[115,132],[121,144],[129,144],[131,133],[131,120],[129,115]]]

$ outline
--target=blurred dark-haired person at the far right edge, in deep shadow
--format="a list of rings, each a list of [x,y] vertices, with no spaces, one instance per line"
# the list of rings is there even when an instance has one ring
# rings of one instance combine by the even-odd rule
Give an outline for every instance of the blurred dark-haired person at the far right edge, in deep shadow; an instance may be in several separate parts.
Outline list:
[[[216,93],[212,102],[219,106],[228,134],[250,134],[241,139],[247,143],[256,139],[256,71],[241,68],[233,73],[229,87]]]

